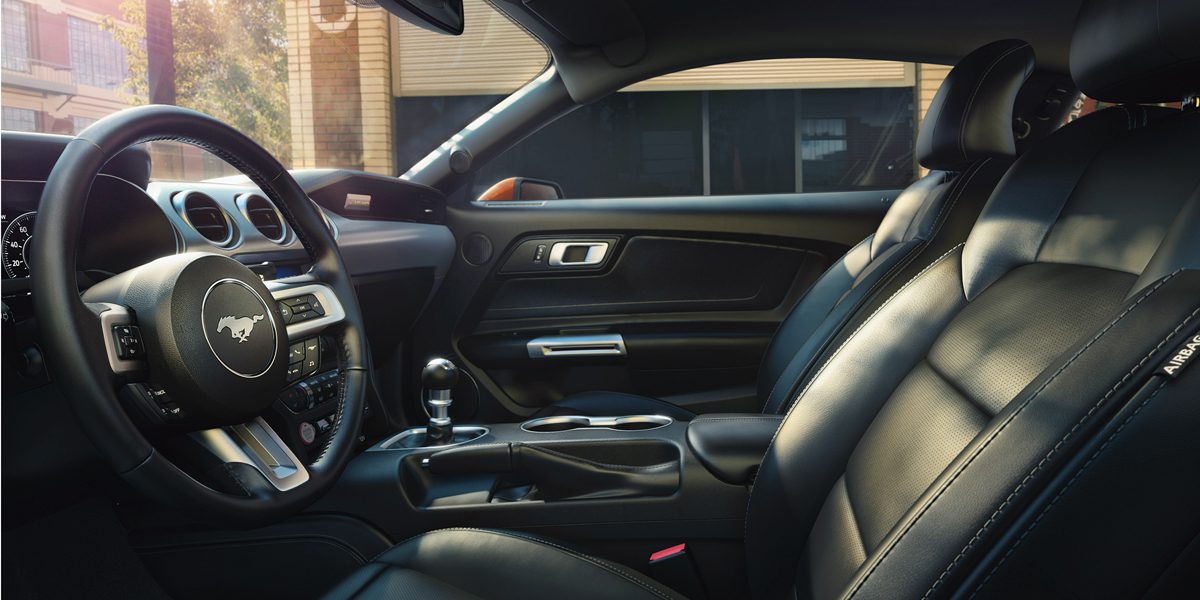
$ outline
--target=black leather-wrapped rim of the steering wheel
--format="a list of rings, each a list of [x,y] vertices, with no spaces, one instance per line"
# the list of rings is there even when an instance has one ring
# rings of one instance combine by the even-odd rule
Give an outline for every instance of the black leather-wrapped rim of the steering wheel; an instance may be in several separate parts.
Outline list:
[[[342,305],[344,317],[323,331],[337,341],[341,371],[334,427],[323,451],[307,466],[308,478],[302,485],[276,490],[264,485],[254,469],[232,463],[224,470],[234,484],[230,486],[234,493],[214,490],[157,451],[122,409],[109,368],[104,332],[96,325],[95,311],[79,294],[76,253],[84,233],[84,209],[92,180],[120,151],[152,140],[199,146],[248,176],[280,209],[312,260],[312,269],[289,278],[289,284],[325,286]],[[67,144],[46,182],[32,244],[38,264],[31,276],[31,289],[48,364],[84,432],[133,487],[209,520],[260,524],[304,509],[334,485],[354,452],[361,426],[368,360],[361,313],[349,272],[317,206],[266,150],[233,127],[194,110],[173,106],[121,110],[91,125]],[[241,266],[228,266],[234,268]],[[269,310],[277,310],[275,302],[266,304]]]

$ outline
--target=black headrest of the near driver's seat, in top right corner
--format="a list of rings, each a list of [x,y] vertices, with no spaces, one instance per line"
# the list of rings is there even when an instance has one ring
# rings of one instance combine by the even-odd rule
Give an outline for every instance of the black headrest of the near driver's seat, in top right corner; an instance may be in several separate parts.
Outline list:
[[[1070,76],[1105,102],[1176,102],[1200,92],[1200,1],[1088,0]]]

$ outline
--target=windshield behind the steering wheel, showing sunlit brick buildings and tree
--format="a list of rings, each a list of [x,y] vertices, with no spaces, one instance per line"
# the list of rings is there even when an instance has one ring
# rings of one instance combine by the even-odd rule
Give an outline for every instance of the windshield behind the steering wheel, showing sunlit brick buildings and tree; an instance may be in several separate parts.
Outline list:
[[[548,64],[484,0],[466,0],[457,37],[348,0],[2,2],[5,130],[74,134],[130,106],[178,104],[290,168],[403,173]],[[155,179],[234,173],[191,146],[150,151]]]

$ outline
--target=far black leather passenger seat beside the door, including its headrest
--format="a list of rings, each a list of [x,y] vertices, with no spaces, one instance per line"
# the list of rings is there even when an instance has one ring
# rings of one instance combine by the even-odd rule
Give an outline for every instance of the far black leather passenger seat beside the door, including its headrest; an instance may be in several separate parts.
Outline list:
[[[876,232],[830,265],[780,324],[758,368],[763,412],[791,406],[799,382],[854,314],[966,240],[1016,152],[1013,103],[1032,72],[1033,50],[1018,40],[984,46],[950,71],[917,138],[917,156],[931,172],[896,197]],[[695,416],[662,400],[612,391],[574,394],[536,416],[559,414]]]

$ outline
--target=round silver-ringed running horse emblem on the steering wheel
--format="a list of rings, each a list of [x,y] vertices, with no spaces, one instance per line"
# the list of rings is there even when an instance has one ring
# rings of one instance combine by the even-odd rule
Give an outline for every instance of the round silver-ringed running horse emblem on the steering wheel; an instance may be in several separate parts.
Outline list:
[[[275,316],[270,305],[240,280],[221,280],[202,306],[204,336],[217,360],[233,373],[256,378],[275,364]]]

